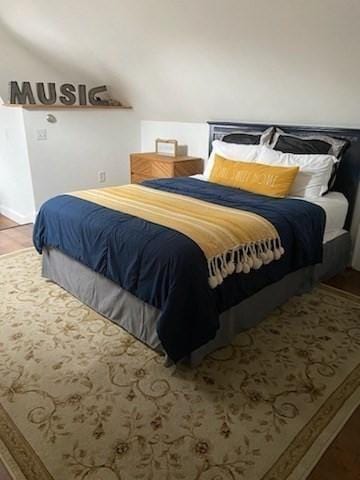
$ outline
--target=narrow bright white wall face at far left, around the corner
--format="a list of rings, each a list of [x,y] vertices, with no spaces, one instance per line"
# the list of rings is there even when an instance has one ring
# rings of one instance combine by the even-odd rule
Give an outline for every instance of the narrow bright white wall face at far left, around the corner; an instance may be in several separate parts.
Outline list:
[[[0,213],[17,223],[34,216],[34,197],[20,109],[0,106]]]

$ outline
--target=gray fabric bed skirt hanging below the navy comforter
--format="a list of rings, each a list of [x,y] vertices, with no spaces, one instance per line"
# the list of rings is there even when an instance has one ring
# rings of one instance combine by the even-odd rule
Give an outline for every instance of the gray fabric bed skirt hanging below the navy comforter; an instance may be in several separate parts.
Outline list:
[[[305,293],[320,280],[342,272],[349,263],[350,253],[351,240],[347,232],[327,242],[323,263],[290,273],[221,314],[215,338],[184,361],[199,364],[207,354],[228,345],[238,333],[254,327],[290,297]],[[152,349],[164,353],[156,332],[160,315],[156,308],[57,249],[44,250],[42,274]]]

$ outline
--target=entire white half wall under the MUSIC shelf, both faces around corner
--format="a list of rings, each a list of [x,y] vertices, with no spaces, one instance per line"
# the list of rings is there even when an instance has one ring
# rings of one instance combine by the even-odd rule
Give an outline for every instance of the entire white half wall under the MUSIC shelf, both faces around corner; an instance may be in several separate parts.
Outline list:
[[[126,184],[129,154],[140,150],[140,122],[126,110],[53,112],[0,107],[0,213],[34,220],[41,204],[74,190]],[[46,130],[47,140],[38,140]],[[106,181],[99,182],[99,172]]]

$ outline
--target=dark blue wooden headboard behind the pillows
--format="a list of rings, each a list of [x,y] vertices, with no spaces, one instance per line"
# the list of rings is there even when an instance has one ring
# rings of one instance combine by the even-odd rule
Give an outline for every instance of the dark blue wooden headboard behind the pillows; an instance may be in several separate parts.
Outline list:
[[[241,130],[261,133],[272,126],[279,127],[286,133],[323,134],[348,140],[350,145],[340,162],[333,190],[343,193],[349,202],[345,228],[350,230],[360,181],[360,129],[236,122],[208,122],[208,124],[210,126],[209,152],[211,152],[211,143],[213,140],[221,139],[224,135],[232,131]]]

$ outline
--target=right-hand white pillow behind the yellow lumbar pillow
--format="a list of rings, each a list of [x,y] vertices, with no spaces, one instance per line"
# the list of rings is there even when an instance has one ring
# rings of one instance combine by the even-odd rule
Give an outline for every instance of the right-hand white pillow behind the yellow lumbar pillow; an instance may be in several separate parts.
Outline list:
[[[300,170],[289,192],[293,197],[320,197],[328,190],[331,172],[337,159],[333,155],[297,155],[282,153],[262,146],[257,163],[298,166]]]

